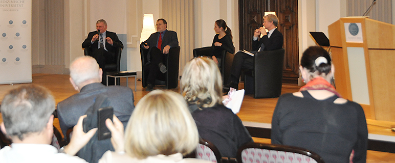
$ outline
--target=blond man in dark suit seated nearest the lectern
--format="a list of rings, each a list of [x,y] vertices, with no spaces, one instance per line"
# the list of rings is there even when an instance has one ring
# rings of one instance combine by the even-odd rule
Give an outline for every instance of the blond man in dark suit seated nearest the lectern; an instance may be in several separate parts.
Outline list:
[[[276,28],[278,25],[277,16],[273,14],[264,16],[263,25],[264,26],[256,29],[254,32],[252,51],[250,51],[253,54],[262,50],[266,51],[282,48],[284,38],[281,32],[279,32]],[[266,33],[266,29],[269,30],[268,33]],[[259,39],[259,35],[261,34],[263,36]],[[242,69],[253,69],[253,65],[254,57],[242,51],[237,52],[232,63],[231,74],[229,77],[230,83],[225,85],[224,89],[229,89],[230,87],[238,89],[240,71]]]

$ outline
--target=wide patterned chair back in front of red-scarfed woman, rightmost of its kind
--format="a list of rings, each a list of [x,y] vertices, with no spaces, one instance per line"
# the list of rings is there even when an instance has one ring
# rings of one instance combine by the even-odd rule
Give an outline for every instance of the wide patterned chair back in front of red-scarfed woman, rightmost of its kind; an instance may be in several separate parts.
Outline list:
[[[283,145],[250,143],[238,149],[240,163],[323,163],[322,158],[311,151]]]

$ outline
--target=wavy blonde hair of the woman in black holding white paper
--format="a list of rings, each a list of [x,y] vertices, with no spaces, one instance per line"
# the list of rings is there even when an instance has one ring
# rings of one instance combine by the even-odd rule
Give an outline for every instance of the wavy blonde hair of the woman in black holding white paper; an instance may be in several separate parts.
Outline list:
[[[212,107],[222,104],[222,78],[214,61],[205,57],[189,61],[181,77],[181,94],[190,104]]]

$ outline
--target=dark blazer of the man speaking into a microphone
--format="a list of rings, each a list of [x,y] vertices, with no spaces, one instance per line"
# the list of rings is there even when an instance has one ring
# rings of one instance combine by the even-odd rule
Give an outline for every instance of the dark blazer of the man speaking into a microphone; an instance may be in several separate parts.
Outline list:
[[[99,46],[99,39],[97,39],[95,42],[93,42],[93,44],[91,44],[91,41],[92,41],[93,36],[95,36],[96,34],[97,34],[97,31],[90,32],[88,34],[88,37],[85,39],[85,41],[82,42],[82,48],[87,48],[92,45],[92,51],[95,52],[98,49],[97,47]],[[108,51],[115,52],[115,49],[117,49],[118,47],[123,48],[123,44],[118,39],[118,36],[115,32],[106,31],[105,37],[106,38],[109,37],[113,40],[113,46],[111,46],[111,44],[109,44],[107,42],[105,43],[105,48]]]

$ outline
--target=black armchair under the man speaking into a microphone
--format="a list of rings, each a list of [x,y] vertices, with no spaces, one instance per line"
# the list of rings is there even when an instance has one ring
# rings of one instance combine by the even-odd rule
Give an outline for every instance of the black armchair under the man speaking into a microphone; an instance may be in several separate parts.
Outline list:
[[[84,49],[84,55],[85,56],[92,56],[92,47],[89,46],[88,48]],[[106,64],[104,65],[103,68],[103,78],[102,78],[102,84],[106,85],[107,81],[106,81],[106,76],[107,76],[107,72],[119,72],[120,71],[120,65],[121,65],[121,55],[122,55],[122,48],[117,48],[115,50],[115,62],[112,64]],[[112,78],[112,77],[111,77]],[[108,85],[114,85],[114,79],[108,79]],[[120,78],[117,78],[117,85],[120,85]]]

